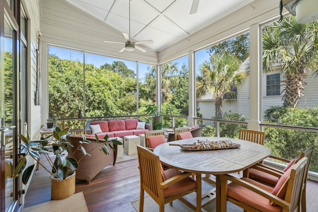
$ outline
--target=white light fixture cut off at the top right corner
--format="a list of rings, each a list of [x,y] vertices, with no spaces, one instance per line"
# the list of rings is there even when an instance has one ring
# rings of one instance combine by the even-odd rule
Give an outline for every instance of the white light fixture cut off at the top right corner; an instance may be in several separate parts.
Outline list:
[[[310,23],[318,20],[317,0],[301,0],[296,5],[297,23]]]

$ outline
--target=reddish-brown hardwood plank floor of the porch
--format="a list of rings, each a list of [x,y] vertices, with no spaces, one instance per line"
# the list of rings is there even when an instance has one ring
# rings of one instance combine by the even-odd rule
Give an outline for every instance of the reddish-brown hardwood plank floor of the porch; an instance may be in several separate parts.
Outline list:
[[[136,212],[131,202],[139,199],[139,191],[137,159],[108,165],[89,185],[76,184],[76,193],[83,192],[89,212]],[[25,195],[24,208],[50,200],[50,176],[40,167]],[[307,212],[318,212],[318,182],[311,180],[307,182]]]

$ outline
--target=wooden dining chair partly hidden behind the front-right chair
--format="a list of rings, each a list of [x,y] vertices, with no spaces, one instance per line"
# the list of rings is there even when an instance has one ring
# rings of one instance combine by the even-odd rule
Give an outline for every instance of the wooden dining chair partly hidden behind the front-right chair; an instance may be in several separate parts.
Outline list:
[[[248,172],[247,172],[247,177],[250,179],[253,179],[255,181],[258,181],[262,184],[275,187],[277,184],[278,180],[280,177],[285,173],[285,171],[288,170],[290,166],[292,166],[295,163],[298,163],[300,159],[303,157],[308,158],[308,162],[306,165],[306,170],[305,170],[305,177],[304,177],[304,185],[303,185],[303,190],[302,190],[302,200],[301,200],[301,211],[306,212],[306,185],[307,185],[307,175],[309,171],[309,165],[311,162],[312,154],[313,154],[314,147],[310,146],[306,148],[300,155],[296,156],[292,160],[287,160],[282,157],[277,157],[271,155],[270,158],[274,158],[276,160],[281,160],[284,162],[288,162],[287,166],[283,170],[279,170],[264,164],[256,164],[252,166]]]

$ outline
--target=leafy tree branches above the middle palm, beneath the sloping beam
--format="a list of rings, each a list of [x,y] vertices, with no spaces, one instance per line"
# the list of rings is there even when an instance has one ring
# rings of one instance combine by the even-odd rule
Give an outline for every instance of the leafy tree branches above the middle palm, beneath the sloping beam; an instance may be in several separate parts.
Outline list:
[[[207,52],[210,55],[223,54],[223,52],[233,54],[242,63],[249,57],[249,32],[212,46],[207,49]]]

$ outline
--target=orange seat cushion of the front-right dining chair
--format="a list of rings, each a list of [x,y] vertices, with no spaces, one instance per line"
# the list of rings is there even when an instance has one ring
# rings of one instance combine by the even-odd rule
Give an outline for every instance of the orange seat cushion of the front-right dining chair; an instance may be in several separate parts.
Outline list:
[[[256,182],[254,180],[251,180],[248,178],[241,178],[241,179],[267,192],[271,192],[273,190],[272,187]],[[236,183],[230,183],[228,185],[228,196],[241,203],[251,206],[252,208],[255,208],[259,211],[263,211],[263,212],[281,212],[282,211],[282,208],[280,206],[271,206],[268,202],[268,199],[266,199],[265,197],[259,194],[256,194],[255,192],[243,186],[240,186]]]

